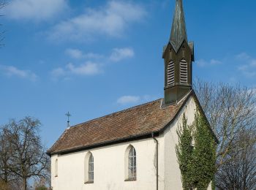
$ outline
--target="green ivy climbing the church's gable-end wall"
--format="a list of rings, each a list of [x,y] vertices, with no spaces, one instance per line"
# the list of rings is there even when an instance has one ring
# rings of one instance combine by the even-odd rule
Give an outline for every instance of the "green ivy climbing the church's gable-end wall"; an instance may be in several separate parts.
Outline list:
[[[207,189],[214,180],[217,144],[206,118],[196,113],[194,123],[188,126],[186,115],[182,115],[177,134],[176,155],[184,190]]]

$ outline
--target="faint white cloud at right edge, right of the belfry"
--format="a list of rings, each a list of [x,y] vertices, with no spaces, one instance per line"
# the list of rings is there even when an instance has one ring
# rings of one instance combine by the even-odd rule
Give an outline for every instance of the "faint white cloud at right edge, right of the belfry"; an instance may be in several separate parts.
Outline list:
[[[238,66],[238,70],[243,73],[246,77],[256,76],[256,58],[252,58],[247,53],[240,53],[236,56],[242,64]]]

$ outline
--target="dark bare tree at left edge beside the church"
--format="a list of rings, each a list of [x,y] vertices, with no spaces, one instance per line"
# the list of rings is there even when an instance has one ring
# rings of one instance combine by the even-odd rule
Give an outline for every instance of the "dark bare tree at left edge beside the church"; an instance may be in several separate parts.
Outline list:
[[[39,126],[39,120],[30,117],[20,121],[12,119],[5,126],[12,149],[8,167],[13,175],[22,180],[23,190],[27,189],[29,178],[48,176],[49,158],[39,137]]]

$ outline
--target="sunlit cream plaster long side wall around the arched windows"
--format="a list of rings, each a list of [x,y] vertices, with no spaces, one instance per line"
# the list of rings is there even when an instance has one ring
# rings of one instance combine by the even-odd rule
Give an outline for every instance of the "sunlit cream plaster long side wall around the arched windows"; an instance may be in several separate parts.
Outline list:
[[[163,137],[159,137],[163,145]],[[129,145],[134,146],[137,155],[137,180],[124,181],[124,153]],[[160,150],[162,153],[160,153]],[[94,156],[94,183],[84,183],[84,158],[90,151]],[[154,167],[156,144],[153,139],[137,140],[77,153],[52,156],[53,190],[143,190],[156,189],[156,168]],[[58,158],[58,177],[55,177],[55,160]],[[162,161],[161,161],[162,158]],[[163,163],[163,146],[159,148],[159,163]],[[163,170],[164,165],[162,164]],[[159,172],[163,175],[164,172]],[[164,179],[163,176],[161,176]],[[162,181],[162,189],[164,184]]]

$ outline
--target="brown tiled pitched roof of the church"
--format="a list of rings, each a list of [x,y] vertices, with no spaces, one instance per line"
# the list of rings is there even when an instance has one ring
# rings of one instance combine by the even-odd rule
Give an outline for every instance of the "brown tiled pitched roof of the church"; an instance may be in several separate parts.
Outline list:
[[[128,140],[152,132],[159,132],[178,114],[190,92],[178,104],[161,107],[162,99],[105,115],[66,129],[48,150],[48,155],[79,151],[93,145]]]

